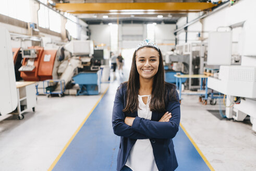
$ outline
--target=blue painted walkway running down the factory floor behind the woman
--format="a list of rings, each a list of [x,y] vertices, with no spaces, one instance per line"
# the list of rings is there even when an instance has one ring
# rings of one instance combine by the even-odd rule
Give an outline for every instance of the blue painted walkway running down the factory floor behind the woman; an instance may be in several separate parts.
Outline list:
[[[53,170],[116,170],[120,138],[113,134],[111,124],[116,85],[111,84]],[[209,162],[181,128],[174,138],[174,145],[179,163],[176,170],[210,170]]]

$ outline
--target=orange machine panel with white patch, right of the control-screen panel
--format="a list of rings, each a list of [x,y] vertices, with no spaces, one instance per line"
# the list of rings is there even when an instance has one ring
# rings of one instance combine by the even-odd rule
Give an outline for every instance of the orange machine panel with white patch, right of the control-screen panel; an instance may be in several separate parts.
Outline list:
[[[56,53],[57,50],[44,50],[38,70],[40,81],[53,79],[53,66]]]

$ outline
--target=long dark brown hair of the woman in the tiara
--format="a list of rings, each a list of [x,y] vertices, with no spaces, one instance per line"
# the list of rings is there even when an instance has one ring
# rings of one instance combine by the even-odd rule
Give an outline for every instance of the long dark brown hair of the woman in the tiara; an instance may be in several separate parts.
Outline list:
[[[147,48],[154,48],[151,46],[145,46]],[[142,47],[144,48],[144,47]],[[154,76],[153,87],[151,92],[150,110],[155,112],[164,112],[165,110],[165,81],[164,81],[164,64],[163,56],[160,50],[159,52],[159,68]],[[131,70],[129,80],[127,83],[126,92],[126,107],[123,109],[125,113],[135,112],[139,106],[138,94],[140,89],[139,72],[136,66],[136,51],[133,53]]]

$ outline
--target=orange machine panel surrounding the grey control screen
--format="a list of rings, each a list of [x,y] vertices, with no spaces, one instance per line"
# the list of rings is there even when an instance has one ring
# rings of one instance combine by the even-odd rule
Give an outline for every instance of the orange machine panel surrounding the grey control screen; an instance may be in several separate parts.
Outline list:
[[[37,57],[34,59],[35,68],[32,71],[20,71],[20,76],[24,81],[39,81],[38,69],[44,48],[39,46],[31,46],[29,48],[34,48],[36,50]],[[28,58],[23,58],[22,66],[26,66],[27,62]]]

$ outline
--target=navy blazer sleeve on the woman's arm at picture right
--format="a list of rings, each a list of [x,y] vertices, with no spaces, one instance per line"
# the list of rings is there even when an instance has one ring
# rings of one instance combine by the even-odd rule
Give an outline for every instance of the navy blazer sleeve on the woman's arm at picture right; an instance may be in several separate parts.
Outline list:
[[[176,99],[179,100],[178,92],[175,92]],[[149,119],[136,117],[131,126],[132,130],[138,131],[143,135],[152,138],[174,138],[179,130],[180,122],[180,103],[179,101],[169,101],[166,107],[172,113],[172,118],[168,122],[159,122]]]

